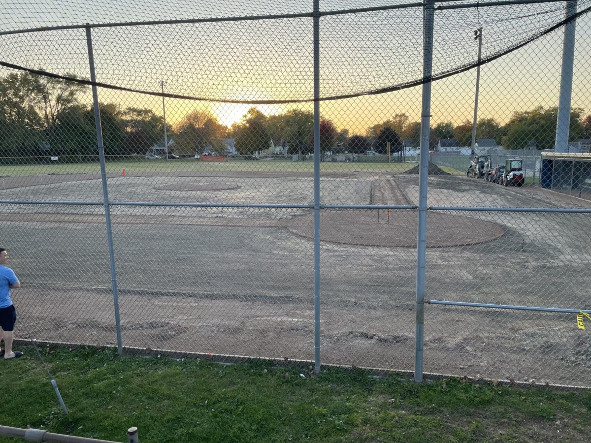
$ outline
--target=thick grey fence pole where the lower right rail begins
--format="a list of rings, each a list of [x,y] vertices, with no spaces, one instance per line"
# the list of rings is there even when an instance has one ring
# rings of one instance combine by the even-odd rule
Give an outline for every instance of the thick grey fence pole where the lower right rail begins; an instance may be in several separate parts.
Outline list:
[[[423,78],[431,77],[433,64],[434,0],[427,0],[423,9]],[[414,381],[423,381],[423,329],[425,302],[425,263],[427,247],[427,175],[429,172],[429,131],[431,123],[431,82],[423,84],[421,105],[421,159],[418,175],[417,227],[417,307],[415,318]]]

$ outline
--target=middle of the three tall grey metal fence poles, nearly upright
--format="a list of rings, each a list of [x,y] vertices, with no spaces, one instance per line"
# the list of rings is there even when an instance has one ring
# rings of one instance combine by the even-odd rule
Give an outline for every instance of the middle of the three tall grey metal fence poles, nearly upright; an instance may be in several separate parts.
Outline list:
[[[320,0],[314,0],[314,372],[320,372]]]

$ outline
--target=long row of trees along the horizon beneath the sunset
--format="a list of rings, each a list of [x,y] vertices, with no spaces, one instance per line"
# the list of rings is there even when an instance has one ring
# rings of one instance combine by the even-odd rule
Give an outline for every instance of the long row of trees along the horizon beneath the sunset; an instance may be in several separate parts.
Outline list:
[[[50,79],[30,73],[11,73],[0,79],[0,157],[4,162],[20,162],[22,157],[47,155],[72,157],[75,161],[96,159],[95,115],[92,105],[80,96],[87,86],[61,79]],[[105,155],[143,155],[154,144],[163,141],[164,121],[151,109],[132,106],[121,108],[115,103],[101,103]],[[591,138],[591,115],[583,109],[572,109],[570,141]],[[515,112],[505,125],[495,119],[480,119],[478,139],[494,139],[506,149],[535,146],[552,149],[556,134],[556,108],[538,107]],[[195,109],[172,127],[177,154],[193,155],[212,149],[223,153],[225,138],[235,139],[239,154],[249,155],[281,146],[287,154],[313,152],[313,113],[292,109],[278,115],[265,115],[251,108],[240,122],[230,128],[219,123],[207,110]],[[320,120],[320,150],[377,154],[403,149],[404,140],[420,145],[420,122],[410,121],[404,113],[366,128],[365,133],[350,135],[338,130],[334,122]],[[472,122],[459,125],[440,122],[430,131],[431,148],[440,139],[456,138],[460,146],[472,140]]]

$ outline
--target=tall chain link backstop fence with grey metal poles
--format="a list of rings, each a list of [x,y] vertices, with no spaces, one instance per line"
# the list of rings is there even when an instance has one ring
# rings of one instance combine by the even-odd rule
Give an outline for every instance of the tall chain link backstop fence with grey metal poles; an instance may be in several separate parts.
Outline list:
[[[29,3],[17,338],[591,386],[591,2]]]

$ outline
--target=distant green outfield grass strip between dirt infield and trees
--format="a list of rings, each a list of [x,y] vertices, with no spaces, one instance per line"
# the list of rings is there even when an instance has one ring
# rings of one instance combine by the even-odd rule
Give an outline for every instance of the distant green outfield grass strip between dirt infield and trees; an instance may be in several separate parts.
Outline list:
[[[400,162],[322,162],[322,172],[404,172],[413,167],[415,163]],[[106,171],[121,173],[125,168],[127,173],[144,172],[175,172],[175,171],[199,171],[199,172],[228,172],[228,171],[254,171],[254,172],[313,172],[314,163],[311,161],[291,162],[288,160],[271,161],[244,161],[241,159],[229,159],[226,162],[207,162],[193,159],[181,160],[122,160],[106,163]],[[70,164],[40,164],[40,165],[1,165],[0,177],[47,175],[47,174],[76,174],[80,172],[94,172],[98,174],[100,167],[97,163],[70,163]]]

